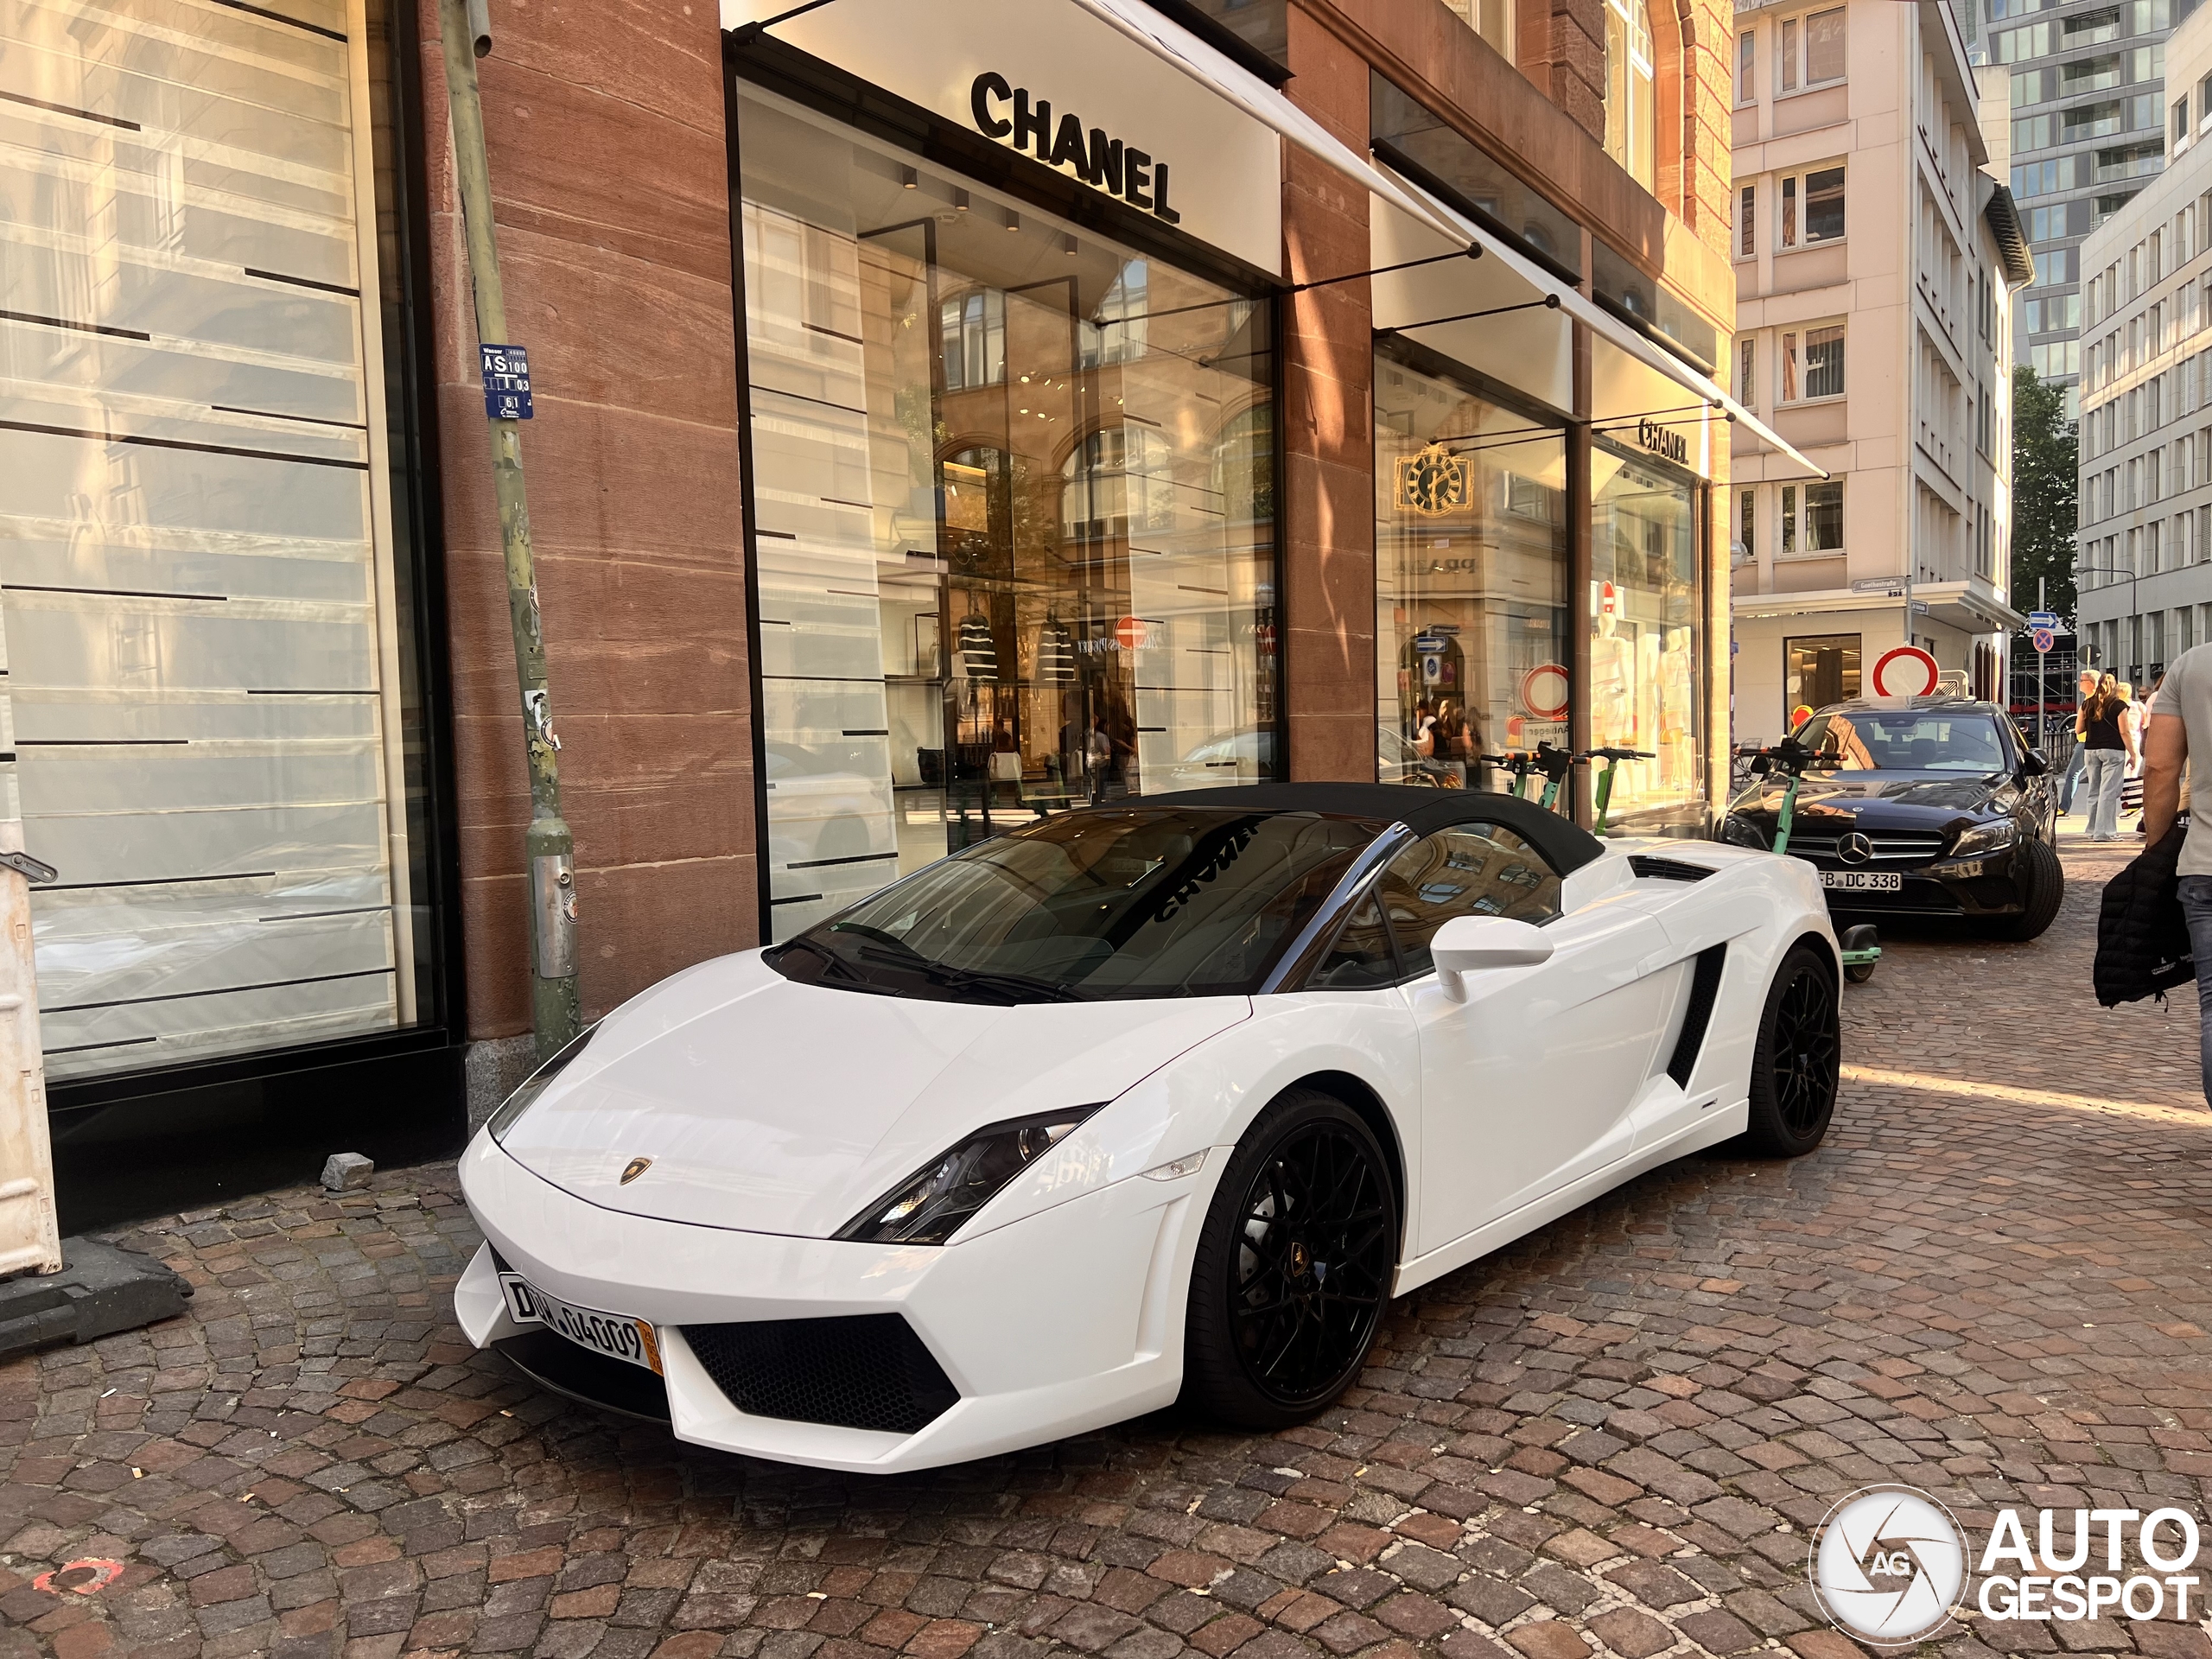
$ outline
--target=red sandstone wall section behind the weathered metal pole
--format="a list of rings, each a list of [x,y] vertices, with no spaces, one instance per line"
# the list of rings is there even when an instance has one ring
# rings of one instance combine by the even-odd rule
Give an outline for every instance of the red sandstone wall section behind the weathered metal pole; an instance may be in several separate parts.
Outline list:
[[[467,1031],[529,1029],[529,781],[422,13]],[[757,940],[721,40],[710,0],[493,0],[480,64],[586,1018]]]

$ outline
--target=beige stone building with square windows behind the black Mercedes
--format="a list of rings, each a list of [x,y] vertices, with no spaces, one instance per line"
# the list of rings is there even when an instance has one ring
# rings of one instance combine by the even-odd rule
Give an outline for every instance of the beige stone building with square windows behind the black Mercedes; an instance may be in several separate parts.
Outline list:
[[[1736,11],[1736,396],[1832,476],[1736,427],[1734,734],[1874,695],[1907,639],[2002,695],[2011,290],[2033,279],[2002,77],[1953,11]],[[1905,624],[1905,580],[1913,624]]]

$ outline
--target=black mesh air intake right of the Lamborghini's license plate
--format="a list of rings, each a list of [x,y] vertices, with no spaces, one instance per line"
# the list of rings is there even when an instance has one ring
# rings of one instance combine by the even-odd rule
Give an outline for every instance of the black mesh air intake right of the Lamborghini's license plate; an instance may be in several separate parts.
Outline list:
[[[684,1340],[739,1411],[914,1433],[960,1389],[898,1314],[686,1325]]]

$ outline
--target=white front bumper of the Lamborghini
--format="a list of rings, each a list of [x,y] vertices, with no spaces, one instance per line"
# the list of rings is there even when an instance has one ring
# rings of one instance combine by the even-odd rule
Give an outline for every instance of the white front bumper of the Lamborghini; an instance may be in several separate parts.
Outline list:
[[[1133,1177],[951,1245],[865,1245],[602,1210],[478,1135],[460,1177],[487,1245],[462,1272],[453,1310],[478,1347],[533,1338],[538,1352],[518,1347],[513,1358],[540,1380],[657,1416],[635,1398],[606,1398],[588,1365],[544,1369],[566,1356],[535,1340],[540,1327],[513,1323],[495,1250],[553,1296],[653,1321],[679,1440],[854,1473],[933,1469],[1175,1400],[1190,1259],[1217,1175],[1219,1159],[1208,1159],[1177,1181]],[[684,1336],[686,1325],[856,1314],[905,1318],[960,1398],[914,1433],[754,1416],[732,1405]],[[633,1383],[648,1376],[624,1369]]]

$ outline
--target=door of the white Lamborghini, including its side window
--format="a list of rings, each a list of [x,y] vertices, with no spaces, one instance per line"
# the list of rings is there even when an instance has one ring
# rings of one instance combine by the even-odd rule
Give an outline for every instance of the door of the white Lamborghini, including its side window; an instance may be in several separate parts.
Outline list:
[[[1376,896],[1398,945],[1420,1040],[1425,1254],[1624,1157],[1628,1108],[1650,1075],[1677,951],[1635,905],[1559,911],[1559,874],[1513,830],[1462,823],[1422,836]],[[1548,962],[1438,982],[1429,940],[1453,916],[1544,927]]]

